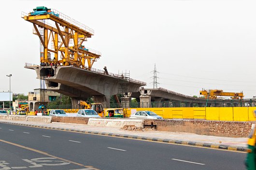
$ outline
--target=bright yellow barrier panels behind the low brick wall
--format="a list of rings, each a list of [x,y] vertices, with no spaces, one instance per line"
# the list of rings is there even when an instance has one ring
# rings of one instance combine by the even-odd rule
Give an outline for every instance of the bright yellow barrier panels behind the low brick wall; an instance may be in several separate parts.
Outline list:
[[[221,121],[256,121],[256,107],[159,107],[159,108],[128,108],[128,117],[141,110],[155,112],[163,118],[173,119],[204,119]]]

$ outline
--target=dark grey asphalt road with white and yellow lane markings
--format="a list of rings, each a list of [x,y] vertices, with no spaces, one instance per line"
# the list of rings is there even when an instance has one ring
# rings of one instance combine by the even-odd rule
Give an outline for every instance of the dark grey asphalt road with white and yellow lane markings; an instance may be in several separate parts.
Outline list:
[[[0,123],[0,170],[245,170],[245,153]]]

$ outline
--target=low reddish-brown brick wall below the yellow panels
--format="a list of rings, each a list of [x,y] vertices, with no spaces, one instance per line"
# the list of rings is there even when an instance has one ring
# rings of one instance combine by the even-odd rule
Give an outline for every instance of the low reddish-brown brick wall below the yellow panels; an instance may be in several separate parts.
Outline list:
[[[153,122],[157,131],[189,132],[200,135],[225,137],[248,137],[255,122],[147,119],[145,125]]]

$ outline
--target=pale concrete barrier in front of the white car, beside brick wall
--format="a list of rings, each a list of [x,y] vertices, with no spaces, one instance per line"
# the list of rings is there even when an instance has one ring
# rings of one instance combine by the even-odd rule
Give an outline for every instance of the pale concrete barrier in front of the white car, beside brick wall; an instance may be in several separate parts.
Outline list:
[[[136,127],[144,127],[142,119],[106,119],[106,118],[89,118],[88,125],[91,126],[107,126],[123,128],[125,125],[134,125]]]

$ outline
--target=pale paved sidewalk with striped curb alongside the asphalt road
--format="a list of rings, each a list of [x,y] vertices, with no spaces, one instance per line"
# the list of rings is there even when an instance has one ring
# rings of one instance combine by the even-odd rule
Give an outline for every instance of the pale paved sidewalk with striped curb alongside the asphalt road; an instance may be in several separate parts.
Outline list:
[[[148,141],[158,141],[172,144],[185,144],[203,147],[211,147],[225,150],[246,152],[248,138],[230,138],[219,136],[198,135],[186,132],[170,131],[125,131],[120,128],[89,126],[71,123],[42,123],[14,120],[0,120],[0,123],[20,124],[47,129],[58,129],[66,131],[79,131],[84,133],[102,134],[107,136],[118,136]]]

